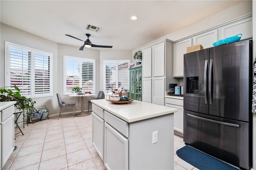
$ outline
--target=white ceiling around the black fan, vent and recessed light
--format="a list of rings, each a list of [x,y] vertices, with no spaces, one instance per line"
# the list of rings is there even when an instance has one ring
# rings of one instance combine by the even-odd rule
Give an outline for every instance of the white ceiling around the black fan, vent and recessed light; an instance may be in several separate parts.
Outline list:
[[[86,33],[96,45],[132,50],[184,28],[241,0],[1,0],[1,22],[57,43],[82,46]],[[138,20],[130,20],[130,16]],[[86,30],[87,24],[100,27]],[[102,49],[96,48],[94,49]],[[84,49],[85,50],[85,49]]]

